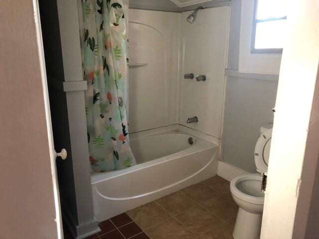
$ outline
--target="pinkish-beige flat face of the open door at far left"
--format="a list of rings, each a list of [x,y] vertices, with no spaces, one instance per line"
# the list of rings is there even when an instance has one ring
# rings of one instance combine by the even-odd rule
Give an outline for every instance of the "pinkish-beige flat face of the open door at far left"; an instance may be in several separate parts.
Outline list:
[[[32,1],[0,4],[0,237],[58,238]]]

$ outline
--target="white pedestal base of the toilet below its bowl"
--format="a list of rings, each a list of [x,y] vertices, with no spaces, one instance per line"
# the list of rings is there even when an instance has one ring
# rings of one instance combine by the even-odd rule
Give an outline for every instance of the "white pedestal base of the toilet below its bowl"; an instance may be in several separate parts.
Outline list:
[[[262,214],[249,213],[239,208],[233,238],[259,239],[262,216]]]

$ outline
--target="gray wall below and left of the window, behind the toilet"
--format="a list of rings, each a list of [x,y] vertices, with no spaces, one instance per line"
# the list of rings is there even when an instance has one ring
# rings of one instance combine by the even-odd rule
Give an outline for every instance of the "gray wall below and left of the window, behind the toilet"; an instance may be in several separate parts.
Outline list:
[[[232,2],[228,68],[238,70],[241,0]],[[251,74],[250,76],[253,76]],[[276,78],[276,77],[274,77]],[[261,125],[273,122],[277,81],[228,77],[222,160],[256,172],[254,149]]]

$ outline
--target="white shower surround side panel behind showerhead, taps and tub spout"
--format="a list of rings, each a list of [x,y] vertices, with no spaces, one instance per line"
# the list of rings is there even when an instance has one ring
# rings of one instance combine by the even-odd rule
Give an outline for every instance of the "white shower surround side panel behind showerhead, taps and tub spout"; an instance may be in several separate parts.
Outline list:
[[[186,21],[191,11],[181,14],[181,78],[186,73],[206,75],[205,82],[181,79],[180,123],[203,133],[221,137],[229,7],[200,10],[193,24]],[[186,124],[197,116],[198,123]]]

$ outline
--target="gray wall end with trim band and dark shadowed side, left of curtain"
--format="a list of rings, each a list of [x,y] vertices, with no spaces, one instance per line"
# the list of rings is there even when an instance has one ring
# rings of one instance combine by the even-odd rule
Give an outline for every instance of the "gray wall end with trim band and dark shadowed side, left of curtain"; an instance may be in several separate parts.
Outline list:
[[[66,160],[57,159],[63,219],[74,237],[98,230],[87,145],[76,1],[39,0],[50,98],[54,144],[66,148]],[[63,51],[62,51],[63,49]]]

